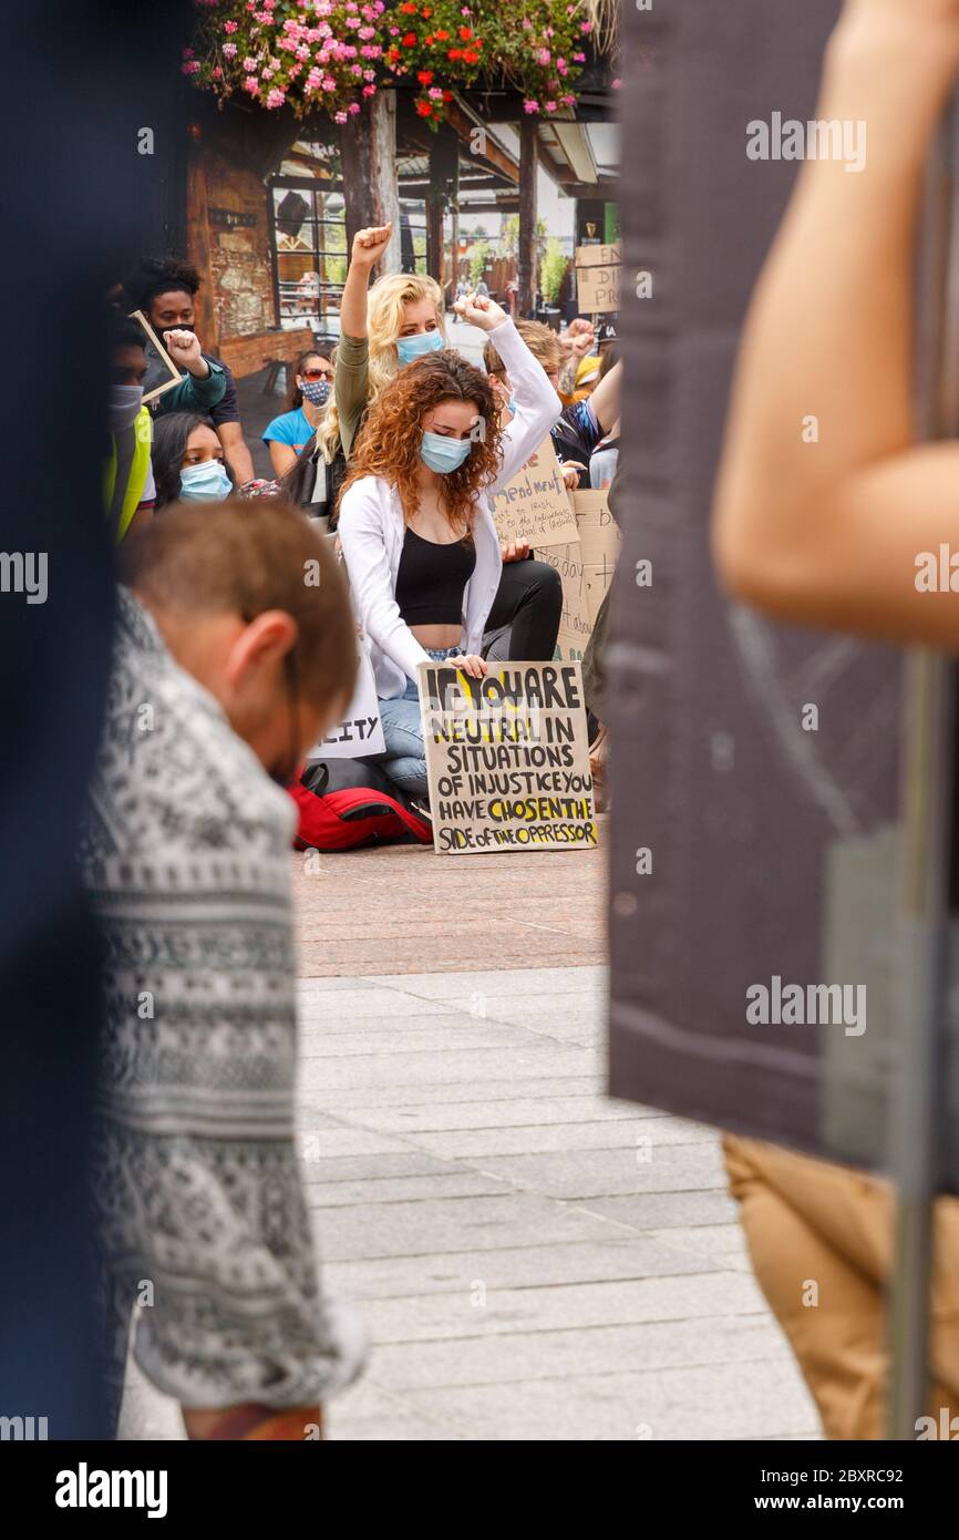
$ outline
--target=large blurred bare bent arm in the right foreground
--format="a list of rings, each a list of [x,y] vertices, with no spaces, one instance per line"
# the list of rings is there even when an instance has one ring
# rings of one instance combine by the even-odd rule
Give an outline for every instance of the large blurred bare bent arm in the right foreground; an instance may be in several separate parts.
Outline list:
[[[714,510],[725,585],[784,619],[959,650],[917,559],[959,548],[959,445],[916,445],[922,169],[959,63],[959,0],[847,0],[817,119],[865,165],[807,160],[747,320]],[[862,131],[860,131],[862,132]]]

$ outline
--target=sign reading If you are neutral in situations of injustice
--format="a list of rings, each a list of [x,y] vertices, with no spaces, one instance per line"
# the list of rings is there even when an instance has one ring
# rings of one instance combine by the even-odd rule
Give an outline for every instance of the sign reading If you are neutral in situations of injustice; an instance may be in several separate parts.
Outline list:
[[[596,808],[579,664],[419,667],[437,853],[582,850]]]

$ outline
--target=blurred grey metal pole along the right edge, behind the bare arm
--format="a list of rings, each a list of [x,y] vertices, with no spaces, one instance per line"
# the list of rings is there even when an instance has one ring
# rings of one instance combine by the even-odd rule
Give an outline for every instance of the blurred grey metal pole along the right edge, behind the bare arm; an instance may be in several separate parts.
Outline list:
[[[922,274],[921,403],[927,437],[959,431],[959,109],[950,108],[930,165]],[[890,1437],[911,1441],[928,1400],[933,1206],[939,1186],[939,1075],[947,1021],[948,852],[954,798],[954,665],[930,651],[905,661],[904,955],[899,1064],[891,1086],[897,1186],[890,1289]]]

